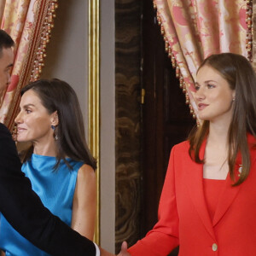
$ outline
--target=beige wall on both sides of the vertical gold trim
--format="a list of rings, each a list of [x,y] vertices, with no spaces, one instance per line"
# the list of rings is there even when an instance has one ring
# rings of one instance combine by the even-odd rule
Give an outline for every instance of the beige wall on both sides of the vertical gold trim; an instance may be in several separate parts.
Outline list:
[[[101,246],[114,251],[114,1],[101,2]],[[59,1],[43,78],[76,90],[87,129],[88,1]]]

